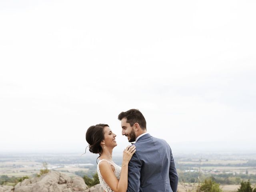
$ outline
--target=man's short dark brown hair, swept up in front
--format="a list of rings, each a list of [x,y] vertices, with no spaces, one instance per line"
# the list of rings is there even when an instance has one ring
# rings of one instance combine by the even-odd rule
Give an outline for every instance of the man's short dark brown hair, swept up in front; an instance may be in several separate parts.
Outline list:
[[[118,119],[122,120],[126,118],[126,122],[133,126],[135,123],[138,123],[143,130],[147,130],[146,128],[146,120],[142,113],[138,109],[130,109],[126,112],[121,112],[118,115]]]

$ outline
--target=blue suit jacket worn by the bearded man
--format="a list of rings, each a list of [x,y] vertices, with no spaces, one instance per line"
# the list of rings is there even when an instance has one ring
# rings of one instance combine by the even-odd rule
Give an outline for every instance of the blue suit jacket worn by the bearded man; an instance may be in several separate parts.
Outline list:
[[[127,192],[176,192],[178,174],[168,143],[145,134],[134,145]]]

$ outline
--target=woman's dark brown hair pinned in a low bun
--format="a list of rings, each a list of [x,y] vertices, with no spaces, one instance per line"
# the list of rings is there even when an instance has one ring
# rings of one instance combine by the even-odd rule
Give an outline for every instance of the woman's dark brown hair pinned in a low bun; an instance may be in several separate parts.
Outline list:
[[[85,137],[86,137],[86,141],[89,144],[89,151],[91,153],[95,153],[95,154],[102,153],[100,142],[104,140],[104,127],[109,127],[109,126],[107,124],[97,124],[97,125],[90,126],[86,131]]]

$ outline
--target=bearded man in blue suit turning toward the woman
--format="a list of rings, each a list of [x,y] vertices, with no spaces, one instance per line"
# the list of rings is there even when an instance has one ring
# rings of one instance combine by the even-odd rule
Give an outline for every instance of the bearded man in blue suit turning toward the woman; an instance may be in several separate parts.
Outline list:
[[[137,109],[121,112],[118,119],[122,135],[136,142],[128,165],[127,192],[176,192],[178,174],[168,143],[147,133],[146,120]]]

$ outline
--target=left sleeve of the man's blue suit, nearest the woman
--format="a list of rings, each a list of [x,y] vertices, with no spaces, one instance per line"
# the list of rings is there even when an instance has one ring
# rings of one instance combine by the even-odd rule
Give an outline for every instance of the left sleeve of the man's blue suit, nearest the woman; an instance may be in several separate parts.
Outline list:
[[[141,162],[136,152],[133,154],[128,164],[128,188],[127,192],[139,192],[140,191],[140,170]]]

